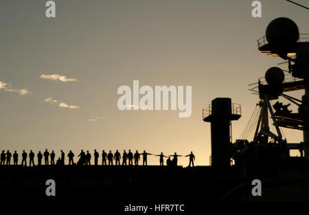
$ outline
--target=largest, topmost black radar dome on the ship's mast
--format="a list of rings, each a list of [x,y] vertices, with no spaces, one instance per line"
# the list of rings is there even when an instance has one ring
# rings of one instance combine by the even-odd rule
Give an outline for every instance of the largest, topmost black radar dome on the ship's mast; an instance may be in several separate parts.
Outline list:
[[[268,24],[266,39],[269,44],[295,43],[299,39],[299,30],[294,21],[280,17]]]

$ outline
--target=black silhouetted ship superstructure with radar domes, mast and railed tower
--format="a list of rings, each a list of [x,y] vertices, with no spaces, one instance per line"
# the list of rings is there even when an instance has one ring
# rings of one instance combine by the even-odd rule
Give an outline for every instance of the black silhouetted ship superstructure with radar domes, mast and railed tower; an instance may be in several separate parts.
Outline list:
[[[299,37],[304,35],[308,35],[308,38]],[[285,78],[282,69],[271,67],[266,71],[264,78],[266,82],[260,79],[251,89],[260,96],[260,102],[257,104],[258,112],[255,118],[257,122],[253,139],[250,139],[250,141],[248,139],[237,139],[235,143],[231,141],[228,143],[230,133],[227,125],[231,120],[238,120],[240,117],[240,115],[231,111],[233,109],[231,109],[230,99],[217,98],[213,100],[211,113],[206,117],[205,112],[210,108],[203,109],[203,120],[211,122],[212,166],[229,166],[232,159],[236,166],[260,168],[289,166],[292,165],[291,163],[301,165],[305,160],[309,160],[309,42],[304,41],[306,39],[309,40],[309,34],[299,34],[294,21],[282,17],[271,21],[266,28],[266,36],[258,40],[260,52],[287,60],[288,73],[292,77]],[[299,90],[305,90],[301,99],[286,94],[290,91]],[[290,111],[288,109],[290,104],[283,104],[278,101],[273,105],[271,104],[279,98],[285,98],[296,104],[298,112]],[[270,126],[275,128],[274,131],[271,131]],[[303,131],[304,142],[288,143],[282,137],[280,128]],[[299,150],[301,156],[290,157],[290,150]]]

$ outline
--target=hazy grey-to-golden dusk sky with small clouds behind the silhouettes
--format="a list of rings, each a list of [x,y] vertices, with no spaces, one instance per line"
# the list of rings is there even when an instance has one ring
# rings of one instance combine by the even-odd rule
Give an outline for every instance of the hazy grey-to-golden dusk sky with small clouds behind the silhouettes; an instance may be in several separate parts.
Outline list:
[[[284,62],[258,52],[268,23],[285,16],[309,33],[308,10],[264,0],[262,17],[253,18],[252,2],[56,0],[56,17],[47,18],[46,1],[0,0],[0,149],[48,148],[56,157],[80,149],[193,151],[198,166],[209,165],[210,124],[202,109],[217,97],[241,104],[242,117],[233,122],[238,139],[259,101],[248,84]],[[192,115],[120,111],[117,89],[133,87],[133,80],[192,86]],[[302,141],[299,131],[284,135]],[[179,165],[188,163],[179,158]]]

